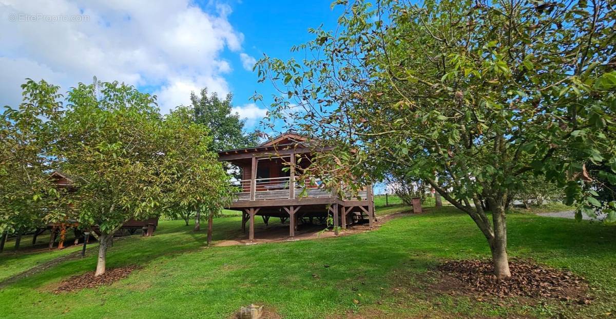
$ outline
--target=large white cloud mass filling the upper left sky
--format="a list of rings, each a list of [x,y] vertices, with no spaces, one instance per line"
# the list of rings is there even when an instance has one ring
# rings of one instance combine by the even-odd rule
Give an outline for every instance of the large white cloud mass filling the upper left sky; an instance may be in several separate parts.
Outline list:
[[[203,86],[224,95],[232,67],[221,54],[243,42],[230,11],[190,0],[0,0],[0,105],[20,102],[25,78],[44,78],[62,92],[92,76],[150,87],[163,111],[189,103],[190,91]],[[20,20],[39,14],[81,22]]]

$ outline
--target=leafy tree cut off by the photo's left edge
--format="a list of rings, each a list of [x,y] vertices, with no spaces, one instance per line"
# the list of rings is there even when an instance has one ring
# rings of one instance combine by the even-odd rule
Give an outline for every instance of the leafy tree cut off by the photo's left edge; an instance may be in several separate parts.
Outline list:
[[[16,109],[6,107],[0,119],[0,234],[18,238],[58,217],[59,194],[49,179],[50,123],[62,107],[59,87],[46,81],[28,79],[22,89],[23,102]]]

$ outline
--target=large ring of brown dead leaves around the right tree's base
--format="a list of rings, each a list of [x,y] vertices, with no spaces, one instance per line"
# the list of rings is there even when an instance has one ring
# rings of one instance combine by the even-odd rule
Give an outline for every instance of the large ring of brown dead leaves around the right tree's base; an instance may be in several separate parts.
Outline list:
[[[498,279],[492,260],[452,260],[437,266],[444,278],[437,288],[485,297],[531,297],[558,299],[586,305],[591,303],[585,278],[550,269],[529,260],[511,260],[511,277]],[[433,287],[435,288],[435,287]]]

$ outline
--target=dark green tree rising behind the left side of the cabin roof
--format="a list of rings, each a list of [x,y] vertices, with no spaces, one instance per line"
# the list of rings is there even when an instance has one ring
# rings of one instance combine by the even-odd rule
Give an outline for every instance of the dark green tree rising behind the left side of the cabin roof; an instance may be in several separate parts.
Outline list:
[[[257,144],[259,137],[255,133],[246,134],[245,119],[237,113],[232,113],[231,93],[224,100],[216,92],[208,96],[208,89],[201,90],[201,94],[190,94],[192,102],[193,120],[195,123],[209,127],[213,137],[210,149],[213,151],[229,150],[233,148],[251,147]],[[227,168],[229,169],[229,168]],[[195,231],[200,230],[201,211],[195,214]],[[208,230],[211,229],[211,216],[208,217]]]

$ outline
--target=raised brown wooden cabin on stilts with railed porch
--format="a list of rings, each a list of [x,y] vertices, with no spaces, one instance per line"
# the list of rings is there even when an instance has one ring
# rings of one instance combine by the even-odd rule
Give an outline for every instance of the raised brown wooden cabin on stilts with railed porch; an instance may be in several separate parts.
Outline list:
[[[321,183],[300,183],[296,176],[309,161],[315,148],[309,147],[307,138],[291,132],[275,137],[257,147],[220,151],[219,161],[226,161],[240,169],[240,180],[232,181],[237,187],[232,203],[227,209],[241,211],[241,229],[248,239],[254,240],[254,220],[261,216],[267,225],[271,217],[289,222],[289,238],[293,239],[299,225],[325,223],[332,217],[334,231],[355,222],[373,227],[375,221],[372,185],[358,194],[338,195],[326,190]],[[331,147],[316,151],[331,151]],[[297,174],[296,174],[297,173]]]

